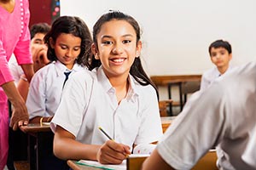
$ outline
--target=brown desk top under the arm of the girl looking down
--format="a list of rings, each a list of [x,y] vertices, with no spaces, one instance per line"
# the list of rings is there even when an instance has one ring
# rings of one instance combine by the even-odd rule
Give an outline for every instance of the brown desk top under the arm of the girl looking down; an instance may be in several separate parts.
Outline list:
[[[27,126],[21,126],[20,130],[24,133],[50,132],[49,124],[28,123]]]

